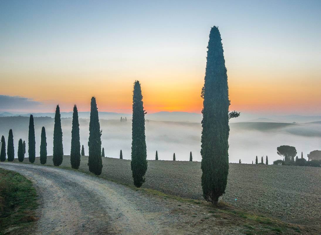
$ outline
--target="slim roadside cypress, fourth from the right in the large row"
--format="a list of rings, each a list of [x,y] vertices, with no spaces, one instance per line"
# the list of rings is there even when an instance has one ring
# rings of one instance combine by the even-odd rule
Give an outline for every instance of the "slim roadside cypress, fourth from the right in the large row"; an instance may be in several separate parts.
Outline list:
[[[78,110],[76,105],[74,105],[73,122],[71,128],[70,164],[74,169],[78,169],[80,165],[80,135]]]

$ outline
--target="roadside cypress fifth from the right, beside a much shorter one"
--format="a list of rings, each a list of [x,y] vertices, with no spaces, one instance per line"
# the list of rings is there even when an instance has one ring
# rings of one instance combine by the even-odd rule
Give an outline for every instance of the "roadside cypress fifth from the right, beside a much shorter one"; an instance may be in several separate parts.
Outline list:
[[[55,125],[54,125],[54,148],[53,148],[53,158],[55,166],[60,166],[64,157],[64,149],[62,145],[62,130],[61,130],[61,119],[60,119],[60,109],[59,105],[56,107],[55,114]]]

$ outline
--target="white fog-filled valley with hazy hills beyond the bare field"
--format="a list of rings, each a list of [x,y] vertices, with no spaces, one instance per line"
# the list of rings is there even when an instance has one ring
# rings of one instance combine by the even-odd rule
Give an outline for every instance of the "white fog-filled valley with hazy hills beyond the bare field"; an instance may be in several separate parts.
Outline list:
[[[13,130],[15,158],[17,158],[18,141],[26,141],[28,157],[28,127],[29,117],[0,117],[0,135],[4,135],[6,144],[9,129]],[[120,119],[120,117],[119,117]],[[119,158],[122,150],[123,158],[131,158],[131,120],[120,122],[119,119],[100,119],[102,129],[101,147],[105,149],[105,156]],[[35,117],[36,156],[40,151],[41,127],[45,126],[47,136],[47,152],[53,152],[54,119],[50,117]],[[72,118],[62,118],[64,155],[70,155]],[[89,119],[80,118],[80,143],[84,145],[85,155],[88,155]],[[168,122],[146,120],[147,159],[154,160],[158,151],[159,160],[172,160],[175,152],[177,161],[188,161],[192,151],[193,161],[201,161],[201,124],[193,122]],[[239,122],[230,123],[229,161],[242,163],[255,162],[261,157],[268,156],[269,164],[281,159],[276,148],[280,145],[296,147],[298,156],[307,159],[307,154],[313,150],[320,150],[321,122],[292,124],[269,122]]]

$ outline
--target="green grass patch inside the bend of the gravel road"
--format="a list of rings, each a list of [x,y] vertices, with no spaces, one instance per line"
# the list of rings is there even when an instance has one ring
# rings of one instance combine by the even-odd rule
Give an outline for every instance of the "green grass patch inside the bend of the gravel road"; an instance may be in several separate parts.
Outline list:
[[[0,168],[0,235],[36,221],[37,193],[30,180]]]

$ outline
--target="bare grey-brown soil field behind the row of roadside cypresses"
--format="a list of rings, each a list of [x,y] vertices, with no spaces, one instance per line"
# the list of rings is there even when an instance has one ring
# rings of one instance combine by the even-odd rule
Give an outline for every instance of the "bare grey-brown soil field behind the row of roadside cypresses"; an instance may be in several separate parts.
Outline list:
[[[35,163],[40,163],[38,157]],[[87,163],[88,157],[82,156],[79,170],[89,172]],[[52,156],[48,156],[47,164],[53,165]],[[64,156],[61,166],[70,167],[70,156]],[[103,158],[101,176],[133,185],[131,174],[130,160]],[[149,160],[142,187],[202,199],[201,175],[200,162]],[[230,163],[223,200],[285,222],[320,229],[320,195],[320,168]]]

